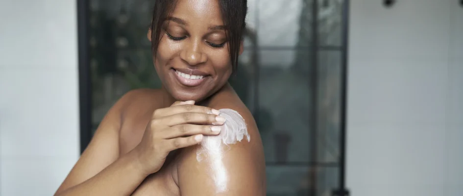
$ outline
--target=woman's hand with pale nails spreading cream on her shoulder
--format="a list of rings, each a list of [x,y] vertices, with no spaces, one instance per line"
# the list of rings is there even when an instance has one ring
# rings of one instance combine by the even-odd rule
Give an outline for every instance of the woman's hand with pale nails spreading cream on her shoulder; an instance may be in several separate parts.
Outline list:
[[[203,135],[218,135],[225,122],[219,111],[177,101],[157,109],[146,126],[140,144],[134,148],[139,166],[149,175],[161,169],[170,151],[200,143]]]

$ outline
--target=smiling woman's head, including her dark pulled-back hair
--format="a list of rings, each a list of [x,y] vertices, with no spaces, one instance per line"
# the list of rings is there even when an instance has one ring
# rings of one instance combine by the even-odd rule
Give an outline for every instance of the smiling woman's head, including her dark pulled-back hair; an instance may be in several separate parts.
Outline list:
[[[163,86],[176,100],[209,98],[227,83],[243,52],[246,1],[156,4],[148,39]],[[203,77],[192,80],[192,74]]]

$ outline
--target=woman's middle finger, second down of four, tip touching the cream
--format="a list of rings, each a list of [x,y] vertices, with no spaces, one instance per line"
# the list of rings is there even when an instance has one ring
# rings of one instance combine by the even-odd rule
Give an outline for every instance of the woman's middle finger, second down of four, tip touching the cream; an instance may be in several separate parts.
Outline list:
[[[185,112],[164,117],[161,119],[161,121],[165,122],[165,124],[168,126],[175,126],[178,124],[222,125],[223,123],[225,123],[225,118],[217,116],[215,114]]]

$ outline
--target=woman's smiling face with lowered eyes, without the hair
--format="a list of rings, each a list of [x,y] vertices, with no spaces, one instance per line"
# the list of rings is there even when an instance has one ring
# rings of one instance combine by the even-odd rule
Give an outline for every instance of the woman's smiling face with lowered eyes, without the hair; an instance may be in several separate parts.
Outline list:
[[[217,0],[178,0],[161,37],[154,67],[173,98],[200,101],[227,82],[232,66]]]

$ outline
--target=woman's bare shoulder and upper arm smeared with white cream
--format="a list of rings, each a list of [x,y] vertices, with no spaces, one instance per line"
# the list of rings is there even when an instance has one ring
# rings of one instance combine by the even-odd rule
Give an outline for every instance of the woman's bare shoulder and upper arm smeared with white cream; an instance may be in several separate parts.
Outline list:
[[[219,136],[205,136],[201,145],[185,149],[177,165],[181,195],[265,196],[264,151],[251,112],[233,91],[217,95],[207,106],[225,115],[239,114],[231,121],[244,120],[249,140],[242,130],[224,130],[227,123],[236,123],[230,121]]]

